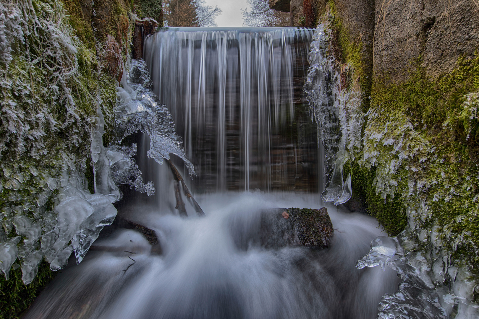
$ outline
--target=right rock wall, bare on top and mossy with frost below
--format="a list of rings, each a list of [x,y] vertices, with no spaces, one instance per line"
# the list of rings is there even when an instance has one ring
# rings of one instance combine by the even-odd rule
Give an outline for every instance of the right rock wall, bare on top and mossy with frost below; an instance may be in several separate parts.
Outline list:
[[[465,266],[479,278],[479,7],[318,3],[330,52],[353,70],[346,87],[361,90],[365,112],[362,150],[344,167],[346,205],[363,206],[389,235],[409,226],[431,264],[445,256],[444,271]]]

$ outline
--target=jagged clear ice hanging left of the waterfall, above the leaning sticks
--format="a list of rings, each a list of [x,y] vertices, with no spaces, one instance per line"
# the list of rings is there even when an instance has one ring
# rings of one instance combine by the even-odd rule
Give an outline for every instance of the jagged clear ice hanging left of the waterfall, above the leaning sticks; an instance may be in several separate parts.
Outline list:
[[[129,75],[124,72],[121,84],[123,88],[117,88],[119,104],[114,110],[117,142],[121,143],[126,136],[139,130],[150,138],[148,158],[162,164],[163,158],[169,159],[170,154],[178,155],[190,175],[196,175],[193,164],[184,154],[182,139],[175,132],[168,108],[158,102],[151,89],[152,82],[143,59],[131,62]]]

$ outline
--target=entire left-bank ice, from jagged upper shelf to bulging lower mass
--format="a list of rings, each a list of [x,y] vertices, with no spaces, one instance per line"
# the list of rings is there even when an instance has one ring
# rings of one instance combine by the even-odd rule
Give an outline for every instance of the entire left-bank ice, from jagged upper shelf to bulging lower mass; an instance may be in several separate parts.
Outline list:
[[[8,50],[7,50],[8,51]],[[118,106],[115,109],[117,142],[132,132],[141,130],[149,134],[151,149],[148,156],[161,162],[169,153],[185,160],[191,174],[193,165],[181,146],[181,139],[174,133],[173,121],[165,106],[157,104],[151,92],[148,71],[144,61],[133,61],[131,72],[123,88],[118,87]],[[30,167],[30,172],[13,172],[3,169],[10,183],[3,187],[19,190],[23,183],[33,180],[39,187],[35,197],[23,198],[21,193],[11,195],[12,201],[22,200],[22,205],[5,206],[1,209],[5,232],[0,232],[0,270],[8,279],[10,269],[22,267],[23,282],[30,283],[37,273],[43,258],[52,270],[65,267],[69,256],[75,252],[80,263],[92,242],[105,225],[113,222],[116,209],[113,202],[121,199],[120,184],[129,184],[148,196],[155,193],[153,183],[143,183],[141,172],[133,159],[136,144],[119,146],[119,143],[103,146],[104,119],[102,100],[97,96],[98,115],[91,132],[91,160],[94,168],[94,190],[88,190],[83,174],[86,158],[77,159],[60,152],[61,159],[52,161],[58,169],[39,171]],[[80,164],[77,164],[80,163]],[[37,188],[34,188],[37,189]],[[46,209],[47,201],[53,202],[53,210]],[[15,229],[18,236],[8,238]],[[19,260],[20,264],[15,264]]]

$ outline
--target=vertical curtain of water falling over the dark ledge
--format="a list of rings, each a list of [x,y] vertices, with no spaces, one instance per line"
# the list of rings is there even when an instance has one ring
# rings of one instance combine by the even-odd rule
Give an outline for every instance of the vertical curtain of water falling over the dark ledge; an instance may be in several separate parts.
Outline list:
[[[197,191],[320,191],[316,124],[302,86],[307,28],[164,28],[145,41]]]

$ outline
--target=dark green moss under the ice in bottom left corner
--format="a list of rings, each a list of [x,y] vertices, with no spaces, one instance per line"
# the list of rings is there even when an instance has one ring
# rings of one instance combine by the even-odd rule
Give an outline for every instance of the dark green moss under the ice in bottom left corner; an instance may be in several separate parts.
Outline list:
[[[48,263],[42,262],[38,267],[38,274],[30,285],[22,282],[20,268],[10,271],[10,279],[7,281],[0,276],[0,318],[17,319],[30,307],[34,298],[42,291],[42,288],[52,280],[55,272],[51,271]]]

